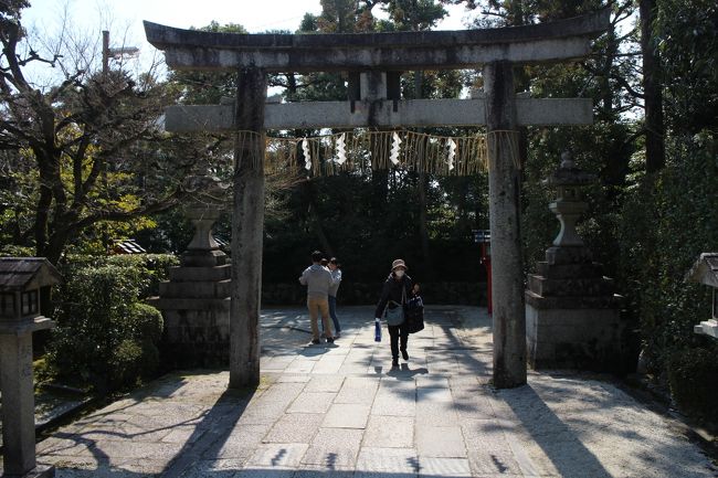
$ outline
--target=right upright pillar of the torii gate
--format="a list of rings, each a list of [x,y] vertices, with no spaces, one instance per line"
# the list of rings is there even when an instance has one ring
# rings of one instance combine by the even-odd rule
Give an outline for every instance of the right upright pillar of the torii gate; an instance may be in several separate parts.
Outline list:
[[[492,231],[494,385],[526,383],[526,316],[520,235],[516,93],[510,62],[484,67]]]

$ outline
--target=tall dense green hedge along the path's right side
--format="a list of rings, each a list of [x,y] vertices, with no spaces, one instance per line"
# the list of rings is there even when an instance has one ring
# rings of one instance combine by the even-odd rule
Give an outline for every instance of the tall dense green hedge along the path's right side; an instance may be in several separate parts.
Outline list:
[[[718,246],[718,138],[696,135],[668,146],[666,168],[629,194],[619,235],[621,290],[641,318],[645,357],[658,376],[674,351],[701,343],[693,328],[710,315],[710,291],[684,276],[701,252]]]

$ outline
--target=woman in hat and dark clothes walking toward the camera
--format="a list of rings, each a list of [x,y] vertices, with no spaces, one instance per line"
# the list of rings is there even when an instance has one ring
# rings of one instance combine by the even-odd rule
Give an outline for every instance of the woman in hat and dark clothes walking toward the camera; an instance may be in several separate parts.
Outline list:
[[[391,367],[399,367],[399,351],[404,360],[409,360],[406,344],[409,331],[404,323],[403,305],[413,294],[411,277],[406,275],[406,264],[397,259],[391,264],[391,274],[381,289],[381,297],[374,311],[374,320],[379,322],[382,317],[387,319],[391,342]],[[401,339],[401,342],[400,342]],[[401,343],[401,344],[400,344]]]

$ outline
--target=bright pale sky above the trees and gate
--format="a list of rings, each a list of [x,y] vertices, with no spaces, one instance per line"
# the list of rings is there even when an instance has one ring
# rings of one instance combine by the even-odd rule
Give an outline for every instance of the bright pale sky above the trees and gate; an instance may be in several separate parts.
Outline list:
[[[86,35],[110,32],[110,46],[138,46],[142,57],[154,47],[145,40],[142,20],[169,26],[204,26],[239,23],[250,33],[266,30],[295,31],[306,12],[319,14],[319,0],[30,0],[22,13],[25,26],[39,33],[57,31],[67,17],[74,29]],[[374,13],[380,13],[374,9]],[[448,7],[450,18],[439,29],[462,30],[466,15],[463,7]],[[66,11],[66,15],[63,13]]]

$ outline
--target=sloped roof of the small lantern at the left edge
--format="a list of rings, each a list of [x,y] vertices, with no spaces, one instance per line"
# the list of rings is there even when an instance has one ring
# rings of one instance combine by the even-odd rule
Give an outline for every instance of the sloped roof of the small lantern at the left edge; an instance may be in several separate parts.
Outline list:
[[[59,284],[62,276],[44,257],[0,257],[0,293]]]

